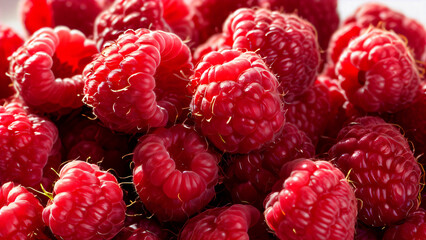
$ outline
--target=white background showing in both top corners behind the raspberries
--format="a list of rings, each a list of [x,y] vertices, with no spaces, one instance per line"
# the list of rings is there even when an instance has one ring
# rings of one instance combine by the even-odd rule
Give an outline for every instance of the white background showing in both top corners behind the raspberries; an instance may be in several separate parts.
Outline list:
[[[0,0],[0,23],[11,26],[18,33],[24,35],[25,31],[23,30],[18,16],[19,2],[19,0]],[[365,2],[371,2],[371,0],[339,0],[338,9],[340,18],[344,19],[346,16],[353,13],[356,7]],[[426,26],[426,0],[376,0],[375,2],[382,2],[407,16],[416,18]]]

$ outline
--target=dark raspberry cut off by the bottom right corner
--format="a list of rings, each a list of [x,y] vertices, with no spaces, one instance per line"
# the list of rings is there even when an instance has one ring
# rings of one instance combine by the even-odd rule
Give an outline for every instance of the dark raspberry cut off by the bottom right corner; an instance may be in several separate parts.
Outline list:
[[[402,224],[386,230],[383,240],[421,240],[426,238],[426,211],[419,208],[412,212]]]

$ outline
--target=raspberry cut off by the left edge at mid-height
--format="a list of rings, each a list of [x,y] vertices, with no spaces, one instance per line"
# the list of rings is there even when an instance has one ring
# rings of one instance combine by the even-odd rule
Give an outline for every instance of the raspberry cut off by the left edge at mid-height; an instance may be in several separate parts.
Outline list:
[[[18,101],[0,106],[0,116],[0,184],[13,181],[38,187],[43,168],[58,157],[58,129]]]

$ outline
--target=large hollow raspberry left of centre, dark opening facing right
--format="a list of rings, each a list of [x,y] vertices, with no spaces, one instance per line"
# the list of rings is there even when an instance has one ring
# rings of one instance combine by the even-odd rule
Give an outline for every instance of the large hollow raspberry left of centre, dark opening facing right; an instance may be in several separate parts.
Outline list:
[[[164,127],[189,105],[192,68],[190,50],[175,34],[129,30],[86,66],[83,100],[113,130]]]

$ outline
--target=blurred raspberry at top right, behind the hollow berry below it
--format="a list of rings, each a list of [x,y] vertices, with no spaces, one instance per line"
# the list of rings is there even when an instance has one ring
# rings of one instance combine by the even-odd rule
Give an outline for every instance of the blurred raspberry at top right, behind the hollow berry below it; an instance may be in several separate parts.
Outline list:
[[[363,28],[376,26],[394,31],[407,42],[417,60],[421,60],[426,51],[426,29],[423,25],[384,4],[365,3],[361,5],[352,16],[343,22],[343,25],[349,23],[356,23]]]

